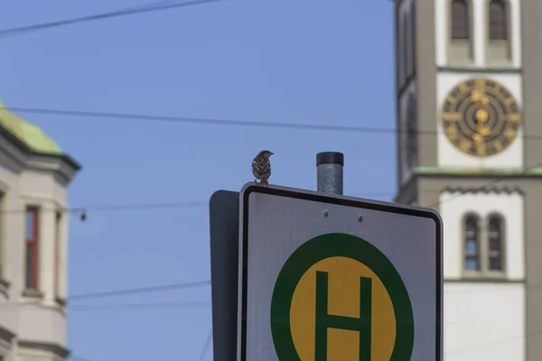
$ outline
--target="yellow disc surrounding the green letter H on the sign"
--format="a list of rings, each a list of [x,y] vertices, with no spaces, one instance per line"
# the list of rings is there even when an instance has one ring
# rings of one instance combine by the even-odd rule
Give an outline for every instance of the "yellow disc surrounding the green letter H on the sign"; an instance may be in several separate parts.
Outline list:
[[[391,298],[378,276],[365,264],[347,257],[326,258],[304,273],[295,288],[290,327],[295,349],[303,361],[314,360],[316,272],[329,275],[328,313],[360,318],[360,277],[372,280],[371,361],[389,361],[396,341],[396,318]],[[328,329],[327,359],[359,361],[358,331]]]

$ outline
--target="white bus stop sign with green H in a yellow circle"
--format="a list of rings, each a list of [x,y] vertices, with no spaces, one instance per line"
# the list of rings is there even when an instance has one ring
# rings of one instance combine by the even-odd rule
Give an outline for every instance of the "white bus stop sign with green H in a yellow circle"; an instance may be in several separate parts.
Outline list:
[[[430,209],[246,185],[238,361],[441,361],[442,221]]]

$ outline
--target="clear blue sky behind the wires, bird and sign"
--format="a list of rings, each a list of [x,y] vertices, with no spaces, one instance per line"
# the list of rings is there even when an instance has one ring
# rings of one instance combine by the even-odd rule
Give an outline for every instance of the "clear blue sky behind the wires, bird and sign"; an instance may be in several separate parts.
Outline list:
[[[146,2],[148,3],[148,1]],[[144,0],[0,3],[0,27]],[[395,125],[391,1],[223,0],[0,38],[6,106],[315,125]],[[84,167],[70,206],[207,201],[253,180],[315,189],[315,154],[345,153],[345,194],[396,184],[395,135],[23,115]],[[70,294],[210,278],[208,209],[89,212],[70,221]],[[86,304],[210,301],[210,288]],[[75,301],[72,304],[76,306]],[[198,360],[210,307],[72,310],[68,343],[91,361]],[[212,359],[211,353],[204,358]]]

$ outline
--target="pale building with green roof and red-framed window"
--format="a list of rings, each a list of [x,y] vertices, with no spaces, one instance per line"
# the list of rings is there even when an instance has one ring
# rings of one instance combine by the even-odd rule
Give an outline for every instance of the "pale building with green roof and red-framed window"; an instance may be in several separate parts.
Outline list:
[[[67,187],[80,167],[0,103],[0,361],[61,361]]]

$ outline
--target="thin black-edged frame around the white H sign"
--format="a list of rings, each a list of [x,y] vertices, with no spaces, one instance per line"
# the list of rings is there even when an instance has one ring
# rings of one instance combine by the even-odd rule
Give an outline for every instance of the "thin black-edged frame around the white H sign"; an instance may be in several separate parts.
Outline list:
[[[363,208],[435,221],[435,361],[443,360],[443,220],[432,208],[422,208],[378,200],[299,190],[269,185],[263,187],[250,182],[239,192],[239,283],[238,283],[238,361],[247,361],[247,308],[248,308],[248,222],[249,196],[261,193],[290,199],[308,200],[350,208]]]

